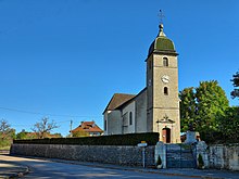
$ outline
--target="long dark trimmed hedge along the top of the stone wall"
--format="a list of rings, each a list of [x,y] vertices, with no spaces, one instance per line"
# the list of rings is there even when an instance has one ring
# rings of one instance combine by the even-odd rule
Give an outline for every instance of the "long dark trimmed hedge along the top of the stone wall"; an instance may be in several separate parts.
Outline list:
[[[158,132],[112,135],[84,138],[46,138],[30,140],[13,140],[13,143],[25,144],[77,144],[77,145],[137,145],[146,141],[148,145],[155,145],[159,141]]]

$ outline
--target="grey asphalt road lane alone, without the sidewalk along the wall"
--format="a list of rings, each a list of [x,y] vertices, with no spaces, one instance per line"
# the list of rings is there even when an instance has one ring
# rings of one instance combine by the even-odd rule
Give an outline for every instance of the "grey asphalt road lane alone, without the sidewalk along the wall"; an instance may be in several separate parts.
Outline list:
[[[185,178],[179,176],[168,176],[151,172],[140,172],[139,170],[128,170],[124,167],[120,169],[113,169],[109,167],[99,167],[96,165],[79,165],[67,163],[59,163],[53,161],[14,157],[14,156],[1,156],[1,161],[14,162],[20,165],[28,166],[29,174],[23,178],[39,178],[39,179],[71,179],[71,178],[93,178],[93,179],[155,179],[155,178]]]

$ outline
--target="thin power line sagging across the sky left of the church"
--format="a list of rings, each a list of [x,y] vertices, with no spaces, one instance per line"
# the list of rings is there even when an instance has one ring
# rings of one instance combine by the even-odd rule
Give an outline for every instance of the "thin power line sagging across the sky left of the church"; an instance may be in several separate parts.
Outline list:
[[[0,106],[0,110],[12,111],[12,112],[17,112],[17,113],[25,113],[25,114],[33,114],[33,115],[55,116],[55,117],[71,117],[71,118],[78,118],[78,117],[102,117],[102,116],[87,116],[87,115],[79,116],[79,115],[65,115],[65,114],[48,114],[48,113],[30,112],[30,111],[10,108],[10,107],[2,107],[2,106]]]

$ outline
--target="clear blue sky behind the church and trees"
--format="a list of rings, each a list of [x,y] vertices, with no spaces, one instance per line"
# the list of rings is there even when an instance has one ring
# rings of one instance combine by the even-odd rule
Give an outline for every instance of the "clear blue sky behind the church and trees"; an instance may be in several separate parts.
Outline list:
[[[49,117],[95,120],[115,92],[146,87],[148,49],[164,31],[179,53],[179,90],[218,80],[230,105],[239,71],[238,0],[0,0],[0,118],[30,131]]]

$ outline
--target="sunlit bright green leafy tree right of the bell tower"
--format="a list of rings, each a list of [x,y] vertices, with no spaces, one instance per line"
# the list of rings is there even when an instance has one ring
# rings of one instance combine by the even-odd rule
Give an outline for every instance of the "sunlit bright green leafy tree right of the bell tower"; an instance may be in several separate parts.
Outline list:
[[[216,80],[202,81],[196,88],[198,130],[213,132],[217,130],[217,116],[224,114],[229,107],[225,91]]]

